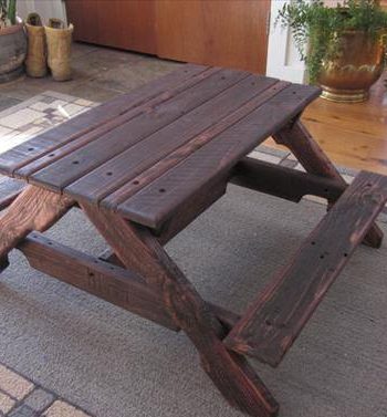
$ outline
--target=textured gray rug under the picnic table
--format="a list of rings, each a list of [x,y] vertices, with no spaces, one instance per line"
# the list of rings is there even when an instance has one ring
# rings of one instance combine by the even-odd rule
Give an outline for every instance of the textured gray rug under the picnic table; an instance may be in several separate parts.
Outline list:
[[[324,212],[230,186],[167,250],[202,295],[242,312]],[[104,248],[75,210],[48,234]],[[387,416],[386,252],[360,247],[280,367],[254,363],[282,417]],[[241,416],[182,333],[41,274],[17,251],[0,281],[0,362],[92,415]]]

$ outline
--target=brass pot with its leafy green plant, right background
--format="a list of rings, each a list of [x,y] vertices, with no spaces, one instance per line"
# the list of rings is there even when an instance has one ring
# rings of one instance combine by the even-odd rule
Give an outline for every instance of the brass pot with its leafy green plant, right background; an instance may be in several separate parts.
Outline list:
[[[378,0],[344,0],[336,7],[295,0],[278,21],[292,29],[308,81],[321,85],[322,97],[367,100],[386,64],[387,11]]]

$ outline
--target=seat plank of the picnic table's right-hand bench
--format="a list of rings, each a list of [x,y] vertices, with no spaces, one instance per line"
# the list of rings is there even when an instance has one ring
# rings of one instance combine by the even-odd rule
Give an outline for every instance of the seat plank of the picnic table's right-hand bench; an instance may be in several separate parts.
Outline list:
[[[387,201],[387,177],[360,173],[232,329],[226,345],[276,366]]]

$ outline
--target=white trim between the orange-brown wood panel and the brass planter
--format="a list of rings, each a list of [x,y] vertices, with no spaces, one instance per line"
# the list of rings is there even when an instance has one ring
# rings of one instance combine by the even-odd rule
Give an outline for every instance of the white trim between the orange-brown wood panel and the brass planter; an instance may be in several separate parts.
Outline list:
[[[289,29],[282,29],[280,24],[274,24],[279,11],[287,1],[272,0],[271,2],[266,75],[293,83],[303,83],[305,65],[300,60],[292,33]]]

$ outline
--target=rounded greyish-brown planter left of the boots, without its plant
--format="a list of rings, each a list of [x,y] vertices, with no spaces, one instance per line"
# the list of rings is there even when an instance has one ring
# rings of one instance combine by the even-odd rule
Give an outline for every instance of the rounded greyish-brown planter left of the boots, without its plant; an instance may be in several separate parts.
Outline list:
[[[0,83],[14,80],[23,72],[27,37],[22,23],[0,29]]]

